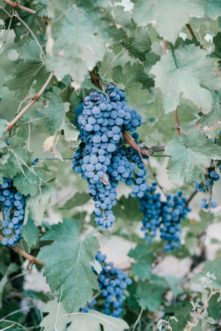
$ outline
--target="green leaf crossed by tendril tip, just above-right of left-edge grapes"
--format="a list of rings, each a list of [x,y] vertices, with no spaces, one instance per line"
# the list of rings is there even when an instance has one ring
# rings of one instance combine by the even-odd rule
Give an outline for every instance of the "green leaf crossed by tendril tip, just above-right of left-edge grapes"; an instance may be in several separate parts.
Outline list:
[[[43,185],[47,180],[46,171],[47,168],[39,166],[31,167],[30,171],[26,166],[23,167],[25,173],[21,173],[19,176],[13,178],[13,185],[17,188],[19,193],[31,196],[36,195],[39,192],[39,184]]]

